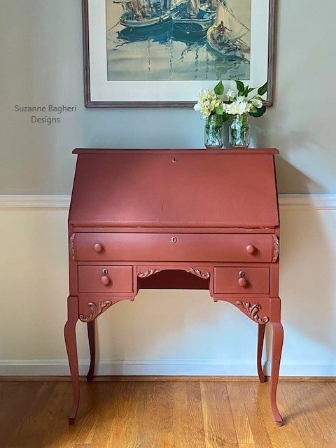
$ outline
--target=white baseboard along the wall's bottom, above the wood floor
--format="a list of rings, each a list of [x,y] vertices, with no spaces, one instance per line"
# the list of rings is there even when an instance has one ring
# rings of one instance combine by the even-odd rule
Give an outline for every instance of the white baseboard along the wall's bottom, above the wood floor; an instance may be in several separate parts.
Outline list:
[[[87,374],[88,360],[79,361],[80,374]],[[265,374],[270,373],[267,361]],[[246,360],[241,363],[218,363],[209,360],[113,360],[100,361],[97,375],[168,375],[168,376],[253,376],[257,374],[255,363]],[[333,377],[336,363],[281,363],[280,374],[288,377]],[[1,376],[64,376],[69,375],[66,360],[0,360]],[[0,378],[1,379],[1,378]]]

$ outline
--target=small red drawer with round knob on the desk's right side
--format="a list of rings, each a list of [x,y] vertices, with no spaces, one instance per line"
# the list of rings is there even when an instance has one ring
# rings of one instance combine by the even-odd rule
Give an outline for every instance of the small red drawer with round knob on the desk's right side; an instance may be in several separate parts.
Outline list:
[[[269,267],[215,267],[215,294],[269,294]]]

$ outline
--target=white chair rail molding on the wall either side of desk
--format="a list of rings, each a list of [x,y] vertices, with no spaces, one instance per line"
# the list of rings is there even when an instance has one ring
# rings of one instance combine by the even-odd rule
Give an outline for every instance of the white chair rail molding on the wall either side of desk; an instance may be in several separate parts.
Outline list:
[[[0,210],[68,210],[70,195],[0,195]],[[281,209],[336,210],[336,194],[279,195]]]

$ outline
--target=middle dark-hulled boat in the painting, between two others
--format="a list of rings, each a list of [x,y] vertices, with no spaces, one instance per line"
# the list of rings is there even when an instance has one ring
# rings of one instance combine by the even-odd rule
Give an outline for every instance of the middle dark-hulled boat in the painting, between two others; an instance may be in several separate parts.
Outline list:
[[[188,0],[183,8],[172,15],[174,34],[190,39],[202,38],[213,25],[215,18],[216,11],[200,10],[200,0]]]

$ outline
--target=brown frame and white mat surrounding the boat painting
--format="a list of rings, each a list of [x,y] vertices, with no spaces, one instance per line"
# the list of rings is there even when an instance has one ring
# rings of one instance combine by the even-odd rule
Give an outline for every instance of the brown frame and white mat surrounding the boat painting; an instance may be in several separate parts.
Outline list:
[[[181,81],[109,80],[106,33],[106,5],[109,1],[117,3],[116,0],[82,0],[85,107],[193,107],[197,93],[202,88],[214,87],[216,80],[219,80],[219,78]],[[226,2],[227,0],[217,1]],[[252,4],[251,70],[250,77],[241,80],[247,81],[253,87],[262,85],[265,80],[268,80],[268,90],[264,97],[264,104],[265,106],[272,106],[275,71],[275,0],[249,1]],[[253,11],[255,16],[253,16]],[[263,31],[260,31],[260,29]],[[256,30],[254,34],[253,30]],[[253,39],[255,39],[255,42],[253,42]],[[148,42],[150,42],[149,39]],[[256,61],[258,61],[258,64]],[[200,63],[202,64],[202,61]],[[130,70],[125,71],[125,74],[128,75],[131,72]],[[220,78],[223,80],[225,87],[235,88],[235,77],[232,80]]]

